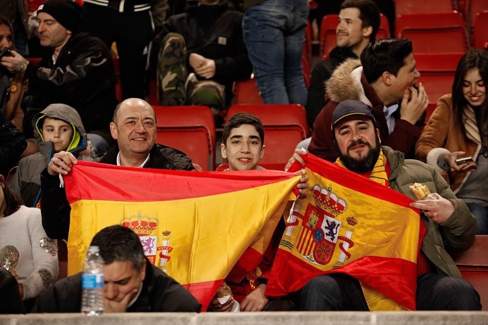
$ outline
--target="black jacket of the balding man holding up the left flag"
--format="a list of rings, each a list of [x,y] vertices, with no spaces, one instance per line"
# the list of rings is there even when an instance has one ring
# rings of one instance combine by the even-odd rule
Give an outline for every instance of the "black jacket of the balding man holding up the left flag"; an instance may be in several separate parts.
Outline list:
[[[115,145],[101,159],[96,161],[117,165],[119,147]],[[178,171],[193,171],[191,159],[183,152],[155,144],[150,152],[150,157],[144,168],[172,169]],[[41,215],[42,227],[49,238],[68,239],[69,215],[71,207],[66,198],[66,191],[60,188],[59,176],[52,176],[47,168],[41,173]]]

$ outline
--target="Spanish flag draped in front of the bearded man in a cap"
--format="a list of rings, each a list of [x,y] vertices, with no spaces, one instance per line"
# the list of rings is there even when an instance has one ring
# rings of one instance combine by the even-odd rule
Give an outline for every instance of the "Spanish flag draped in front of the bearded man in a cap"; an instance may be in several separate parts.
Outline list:
[[[423,233],[412,200],[313,155],[304,160],[309,187],[287,220],[266,295],[283,296],[313,277],[341,272],[361,282],[370,310],[415,310]]]

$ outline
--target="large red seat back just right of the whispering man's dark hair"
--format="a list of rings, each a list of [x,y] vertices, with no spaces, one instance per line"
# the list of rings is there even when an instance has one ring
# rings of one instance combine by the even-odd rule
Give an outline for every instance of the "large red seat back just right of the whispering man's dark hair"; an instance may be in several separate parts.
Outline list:
[[[412,40],[414,53],[465,52],[469,48],[466,23],[455,11],[399,16],[396,28],[398,38]]]

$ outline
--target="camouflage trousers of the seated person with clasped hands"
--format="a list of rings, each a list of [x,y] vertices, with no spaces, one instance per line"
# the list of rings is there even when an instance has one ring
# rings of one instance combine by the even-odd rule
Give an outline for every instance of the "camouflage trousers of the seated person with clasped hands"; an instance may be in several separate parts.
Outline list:
[[[224,86],[213,80],[188,76],[188,53],[182,35],[169,33],[163,39],[158,57],[158,95],[163,106],[204,105],[214,115],[225,108]]]

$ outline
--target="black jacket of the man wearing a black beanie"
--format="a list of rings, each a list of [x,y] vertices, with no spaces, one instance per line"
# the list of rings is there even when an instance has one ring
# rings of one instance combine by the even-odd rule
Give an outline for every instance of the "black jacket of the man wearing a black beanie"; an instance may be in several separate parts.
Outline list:
[[[87,33],[71,36],[56,63],[52,51],[40,66],[27,65],[24,74],[29,90],[24,109],[44,109],[49,104],[67,104],[78,111],[87,133],[111,141],[109,125],[117,105],[112,55],[101,39]],[[32,116],[31,116],[32,117]]]

